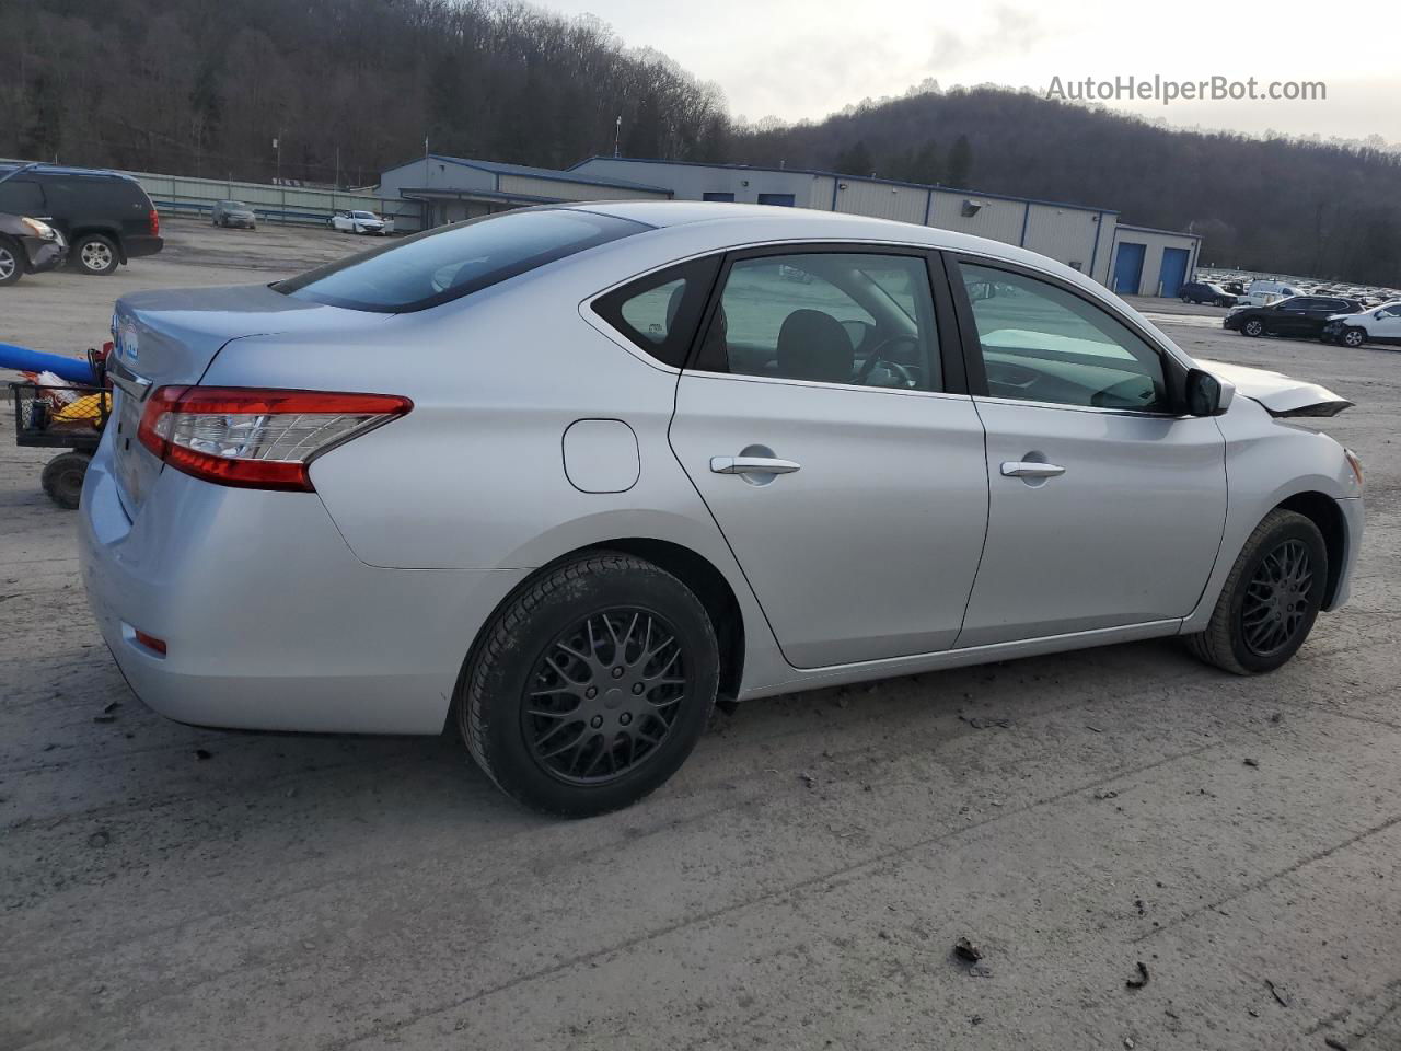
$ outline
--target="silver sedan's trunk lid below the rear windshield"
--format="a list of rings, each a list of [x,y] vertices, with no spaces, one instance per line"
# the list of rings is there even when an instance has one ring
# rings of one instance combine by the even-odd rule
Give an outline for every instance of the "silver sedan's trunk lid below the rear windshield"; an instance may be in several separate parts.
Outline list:
[[[283,296],[266,284],[168,289],[123,296],[112,312],[113,471],[136,517],[161,461],[136,439],[146,398],[158,387],[193,385],[228,343],[255,335],[364,331],[392,318]]]

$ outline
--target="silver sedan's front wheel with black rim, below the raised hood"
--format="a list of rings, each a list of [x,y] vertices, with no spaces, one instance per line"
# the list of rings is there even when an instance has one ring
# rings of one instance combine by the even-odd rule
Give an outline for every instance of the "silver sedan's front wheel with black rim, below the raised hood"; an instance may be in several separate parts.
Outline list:
[[[1236,675],[1274,671],[1313,631],[1327,579],[1318,527],[1296,511],[1272,510],[1236,558],[1206,631],[1187,636],[1188,650]]]

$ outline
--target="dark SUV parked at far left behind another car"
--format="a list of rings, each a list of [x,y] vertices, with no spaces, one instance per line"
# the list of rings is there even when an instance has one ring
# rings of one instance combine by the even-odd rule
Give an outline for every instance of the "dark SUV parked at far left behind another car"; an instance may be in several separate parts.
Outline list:
[[[112,273],[118,263],[154,255],[164,245],[146,191],[130,175],[112,171],[0,165],[0,212],[57,228],[70,245],[69,261],[83,273]]]

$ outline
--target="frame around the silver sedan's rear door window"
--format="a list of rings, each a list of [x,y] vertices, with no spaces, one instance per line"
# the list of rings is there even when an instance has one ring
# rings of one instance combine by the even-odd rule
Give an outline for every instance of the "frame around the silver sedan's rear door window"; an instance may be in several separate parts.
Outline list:
[[[922,394],[937,397],[968,395],[969,391],[964,369],[964,349],[958,339],[954,301],[948,290],[948,283],[941,276],[943,263],[940,262],[940,256],[943,252],[937,248],[899,242],[885,244],[881,241],[773,241],[762,245],[731,248],[722,252],[722,255],[724,258],[710,289],[710,297],[700,314],[700,324],[692,334],[691,349],[686,353],[682,371],[693,373],[696,376],[720,376],[729,380],[755,380],[759,383],[782,383],[801,387],[821,387],[827,390],[864,391],[867,394]],[[696,359],[700,353],[705,334],[709,331],[715,312],[720,305],[720,298],[724,294],[724,286],[730,280],[730,270],[734,268],[734,263],[745,262],[748,259],[764,259],[783,255],[899,255],[923,259],[925,275],[929,279],[929,294],[934,308],[939,367],[943,373],[940,390],[919,391],[901,390],[898,387],[866,387],[862,384],[797,380],[783,376],[750,376],[747,373],[731,373],[729,371],[729,367],[724,371],[698,367]]]

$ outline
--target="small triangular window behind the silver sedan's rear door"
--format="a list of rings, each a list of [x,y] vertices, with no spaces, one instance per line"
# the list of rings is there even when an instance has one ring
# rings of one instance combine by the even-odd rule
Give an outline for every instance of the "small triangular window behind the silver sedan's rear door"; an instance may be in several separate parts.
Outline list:
[[[692,259],[649,273],[594,301],[594,312],[639,350],[679,369],[700,322],[720,258]]]

